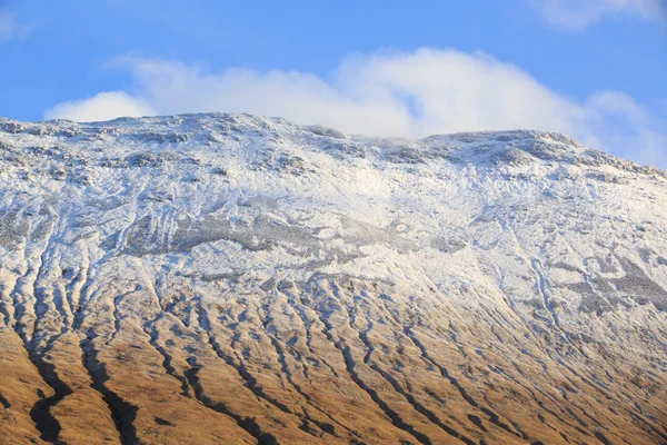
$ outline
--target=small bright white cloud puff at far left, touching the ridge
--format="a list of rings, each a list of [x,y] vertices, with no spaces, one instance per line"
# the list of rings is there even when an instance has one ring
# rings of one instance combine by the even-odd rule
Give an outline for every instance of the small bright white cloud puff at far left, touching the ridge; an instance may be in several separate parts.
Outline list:
[[[151,116],[156,111],[145,100],[123,91],[100,92],[89,99],[62,102],[47,110],[47,119],[78,121],[110,120],[117,117]]]

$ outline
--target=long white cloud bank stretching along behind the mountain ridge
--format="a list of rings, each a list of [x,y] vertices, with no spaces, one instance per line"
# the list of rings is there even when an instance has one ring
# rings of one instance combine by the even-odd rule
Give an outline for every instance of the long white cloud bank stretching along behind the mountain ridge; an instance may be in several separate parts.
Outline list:
[[[563,97],[519,68],[482,53],[420,49],[345,60],[332,80],[296,71],[228,69],[122,59],[137,93],[64,102],[48,118],[103,120],[148,113],[230,111],[280,116],[346,132],[422,137],[471,130],[554,130],[635,160],[667,166],[664,122],[630,97]]]

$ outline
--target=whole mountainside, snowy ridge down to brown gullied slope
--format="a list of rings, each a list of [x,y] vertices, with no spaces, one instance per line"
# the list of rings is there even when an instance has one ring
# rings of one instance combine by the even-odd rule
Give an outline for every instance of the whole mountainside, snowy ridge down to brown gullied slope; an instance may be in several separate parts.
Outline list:
[[[0,120],[2,444],[667,442],[667,177],[557,134]]]

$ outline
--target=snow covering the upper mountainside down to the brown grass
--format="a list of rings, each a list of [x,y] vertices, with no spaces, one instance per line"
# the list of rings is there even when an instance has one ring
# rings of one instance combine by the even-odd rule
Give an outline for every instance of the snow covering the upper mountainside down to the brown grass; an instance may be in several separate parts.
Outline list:
[[[667,368],[667,174],[563,135],[2,119],[0,156],[2,323],[29,344],[102,326],[109,286],[148,323],[177,304],[169,286],[230,298],[349,277]]]

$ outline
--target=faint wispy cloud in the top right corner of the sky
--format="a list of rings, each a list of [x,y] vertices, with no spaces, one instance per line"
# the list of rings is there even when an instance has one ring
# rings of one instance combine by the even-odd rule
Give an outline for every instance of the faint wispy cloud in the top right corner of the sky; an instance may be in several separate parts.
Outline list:
[[[663,0],[530,0],[545,19],[566,30],[580,30],[599,20],[630,14],[645,20],[665,17]]]

